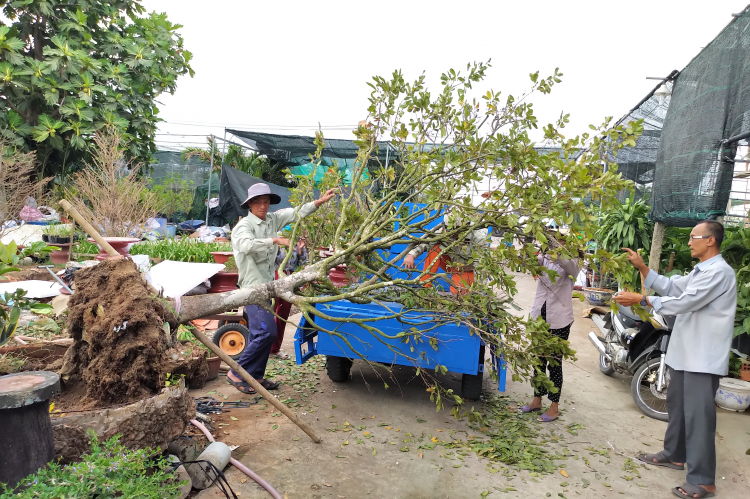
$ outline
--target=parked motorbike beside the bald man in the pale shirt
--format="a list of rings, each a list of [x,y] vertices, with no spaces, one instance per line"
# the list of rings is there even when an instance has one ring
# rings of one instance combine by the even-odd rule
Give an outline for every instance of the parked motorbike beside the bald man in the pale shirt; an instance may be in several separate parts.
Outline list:
[[[599,350],[599,370],[607,376],[633,376],[630,391],[638,408],[650,418],[667,421],[669,370],[665,357],[675,317],[654,314],[643,321],[629,307],[621,306],[616,314],[592,313],[591,319],[603,335],[589,333],[589,340]]]

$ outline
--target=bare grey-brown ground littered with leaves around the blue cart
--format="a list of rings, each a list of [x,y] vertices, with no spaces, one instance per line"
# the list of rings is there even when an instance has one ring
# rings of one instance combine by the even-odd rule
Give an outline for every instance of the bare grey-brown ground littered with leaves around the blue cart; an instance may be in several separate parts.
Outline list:
[[[519,275],[518,288],[518,303],[528,313],[535,282]],[[641,414],[631,398],[629,378],[610,378],[599,372],[598,354],[586,338],[595,326],[581,318],[585,307],[574,302],[576,321],[570,341],[578,360],[564,365],[563,415],[543,428],[557,435],[560,445],[572,454],[556,461],[561,467],[552,474],[511,467],[499,473],[496,470],[502,467],[489,466],[489,461],[473,453],[460,456],[442,447],[424,450],[420,456],[418,444],[404,445],[407,433],[447,439],[453,430],[457,438],[477,432],[466,420],[451,417],[448,410],[436,413],[424,386],[412,380],[413,369],[398,369],[398,386],[389,382],[390,388],[385,389],[372,370],[358,369],[361,362],[355,362],[354,376],[346,383],[331,382],[320,362],[306,367],[309,372],[297,372],[292,361],[269,364],[271,373],[297,373],[291,386],[282,385],[278,396],[303,402],[294,410],[322,437],[322,443],[313,443],[262,400],[215,418],[215,437],[238,445],[233,455],[289,499],[674,497],[670,488],[684,482],[685,472],[646,465],[635,472],[624,469],[627,456],[661,449],[666,423]],[[290,325],[284,338],[290,353],[294,351],[293,336]],[[528,384],[508,379],[506,394],[518,401],[530,400]],[[458,390],[460,378],[449,373],[444,383]],[[497,384],[486,377],[485,389],[497,392]],[[218,400],[251,399],[228,386],[223,376],[193,393],[196,397],[211,394]],[[750,497],[750,455],[745,454],[750,448],[750,412],[717,412],[717,497]],[[577,435],[567,431],[567,425],[574,423],[582,425]],[[405,448],[408,450],[401,450]],[[495,472],[490,471],[493,468]],[[269,497],[237,469],[229,466],[225,473],[241,499]],[[194,497],[224,496],[207,489]]]

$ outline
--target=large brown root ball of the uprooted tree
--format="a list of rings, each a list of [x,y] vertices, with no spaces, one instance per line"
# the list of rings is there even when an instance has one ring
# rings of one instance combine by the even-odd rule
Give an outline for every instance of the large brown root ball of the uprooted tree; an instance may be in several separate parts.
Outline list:
[[[152,295],[128,259],[82,269],[75,285],[68,304],[68,332],[74,343],[60,371],[66,384],[82,381],[85,402],[91,405],[131,402],[158,393],[165,369],[175,368],[165,355],[172,338],[164,330],[167,321],[176,330],[174,314]]]

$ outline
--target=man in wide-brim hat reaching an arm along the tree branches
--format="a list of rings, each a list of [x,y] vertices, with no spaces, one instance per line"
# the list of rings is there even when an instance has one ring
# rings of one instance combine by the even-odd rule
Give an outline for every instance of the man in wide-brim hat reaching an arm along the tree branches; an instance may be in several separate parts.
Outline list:
[[[240,274],[240,288],[273,281],[279,246],[289,246],[289,240],[278,237],[278,232],[284,226],[313,213],[320,205],[333,198],[336,191],[337,189],[326,191],[320,199],[302,205],[298,211],[294,208],[285,208],[268,213],[271,205],[279,204],[281,198],[272,193],[266,184],[255,184],[247,190],[247,199],[242,203],[242,207],[248,209],[248,214],[232,231],[232,248]],[[245,312],[250,334],[238,363],[266,390],[275,390],[279,387],[278,383],[264,379],[268,355],[276,340],[275,317],[258,305],[247,305]],[[255,390],[234,371],[227,374],[227,382],[243,393],[255,393]]]

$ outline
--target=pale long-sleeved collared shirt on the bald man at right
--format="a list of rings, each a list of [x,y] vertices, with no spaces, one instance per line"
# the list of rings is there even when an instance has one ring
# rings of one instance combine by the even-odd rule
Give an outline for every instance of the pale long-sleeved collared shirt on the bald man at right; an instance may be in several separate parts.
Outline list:
[[[666,362],[677,371],[729,372],[729,349],[737,310],[734,270],[716,255],[695,266],[686,276],[648,273],[644,284],[661,297],[649,297],[654,310],[675,315]]]

